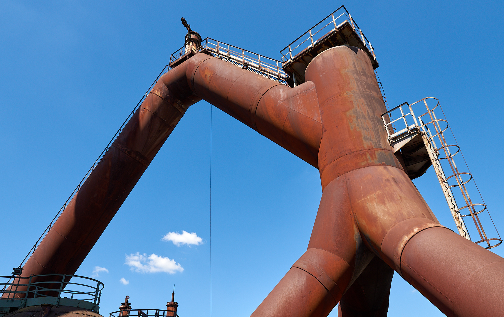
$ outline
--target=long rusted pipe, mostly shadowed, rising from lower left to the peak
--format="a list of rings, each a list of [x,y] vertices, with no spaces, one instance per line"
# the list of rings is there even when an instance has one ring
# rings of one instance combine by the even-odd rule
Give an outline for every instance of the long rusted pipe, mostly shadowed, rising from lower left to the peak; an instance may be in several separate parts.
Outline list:
[[[74,274],[188,106],[200,99],[181,64],[159,78],[24,265],[23,276]]]

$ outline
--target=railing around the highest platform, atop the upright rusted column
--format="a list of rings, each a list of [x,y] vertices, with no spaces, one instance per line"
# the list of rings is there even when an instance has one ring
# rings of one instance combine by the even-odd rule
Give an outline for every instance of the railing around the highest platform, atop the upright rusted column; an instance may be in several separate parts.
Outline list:
[[[345,6],[339,7],[336,11],[328,15],[325,19],[317,23],[314,27],[306,31],[303,35],[295,39],[292,43],[285,46],[284,49],[280,51],[282,54],[282,61],[292,61],[299,53],[309,47],[313,47],[321,39],[325,38],[328,34],[333,31],[338,31],[338,29],[345,24],[345,22],[350,23],[353,30],[357,33],[364,47],[367,47],[371,52],[374,59],[374,49],[371,43],[364,36],[359,26],[352,19],[352,16],[346,10]]]

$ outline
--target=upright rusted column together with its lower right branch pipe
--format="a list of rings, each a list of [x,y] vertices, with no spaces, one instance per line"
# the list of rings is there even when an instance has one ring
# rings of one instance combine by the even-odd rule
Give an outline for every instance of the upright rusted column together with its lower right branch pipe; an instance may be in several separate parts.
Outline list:
[[[493,298],[504,296],[504,259],[440,225],[398,164],[380,123],[384,105],[369,58],[329,49],[306,78],[317,87],[325,131],[322,185],[346,178],[364,243],[445,314],[502,315],[504,303]]]

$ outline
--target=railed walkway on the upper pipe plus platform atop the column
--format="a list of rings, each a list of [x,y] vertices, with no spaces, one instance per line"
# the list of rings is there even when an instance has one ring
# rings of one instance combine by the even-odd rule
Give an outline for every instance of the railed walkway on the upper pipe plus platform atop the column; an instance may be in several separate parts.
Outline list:
[[[378,67],[371,43],[346,8],[341,6],[281,50],[281,60],[207,37],[201,42],[191,43],[186,40],[184,46],[171,54],[169,68],[177,67],[197,53],[205,53],[281,84],[295,87],[304,83],[306,67],[315,56],[340,45],[362,49],[369,55],[373,69]]]

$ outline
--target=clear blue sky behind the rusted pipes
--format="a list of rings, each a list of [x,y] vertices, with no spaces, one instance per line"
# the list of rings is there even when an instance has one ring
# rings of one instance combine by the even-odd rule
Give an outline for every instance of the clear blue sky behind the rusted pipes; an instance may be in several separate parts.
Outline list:
[[[499,2],[3,1],[1,274],[19,265],[183,45],[180,17],[203,37],[280,58],[280,49],[342,4],[375,47],[389,105],[439,98],[504,232]],[[455,229],[432,169],[415,185],[440,222]],[[321,195],[317,169],[213,109],[214,314],[254,311],[306,249]],[[182,230],[201,242],[162,239]],[[504,255],[504,246],[494,250]],[[183,271],[132,271],[125,263],[137,252],[174,260]],[[210,105],[202,101],[186,112],[77,274],[108,270],[98,272],[103,315],[125,295],[133,308],[164,308],[175,284],[181,317],[208,316],[209,260]],[[389,316],[404,315],[443,314],[396,274]]]

